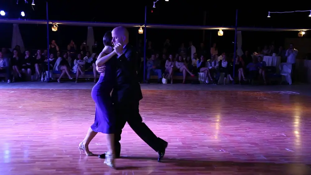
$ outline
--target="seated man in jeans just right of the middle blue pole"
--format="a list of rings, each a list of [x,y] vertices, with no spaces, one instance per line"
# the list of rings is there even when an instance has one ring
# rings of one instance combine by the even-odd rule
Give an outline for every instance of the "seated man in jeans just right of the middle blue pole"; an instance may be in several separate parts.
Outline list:
[[[151,55],[151,58],[147,61],[147,81],[149,82],[151,72],[156,72],[158,74],[158,83],[161,83],[162,71],[161,71],[161,61],[156,59],[155,55]]]

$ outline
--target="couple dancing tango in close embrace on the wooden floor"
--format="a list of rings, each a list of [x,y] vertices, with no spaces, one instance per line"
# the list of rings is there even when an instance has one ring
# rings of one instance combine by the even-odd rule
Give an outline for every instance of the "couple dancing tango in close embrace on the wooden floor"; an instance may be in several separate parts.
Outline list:
[[[98,132],[106,134],[107,152],[99,155],[109,167],[115,168],[114,159],[120,157],[121,133],[126,122],[135,133],[158,153],[158,162],[163,158],[168,143],[157,137],[142,122],[139,101],[142,90],[137,78],[136,52],[129,42],[128,30],[116,27],[104,35],[104,49],[96,60],[100,78],[92,89],[95,101],[95,122],[79,144],[87,156],[94,156],[88,145]],[[112,95],[110,96],[110,92]]]

